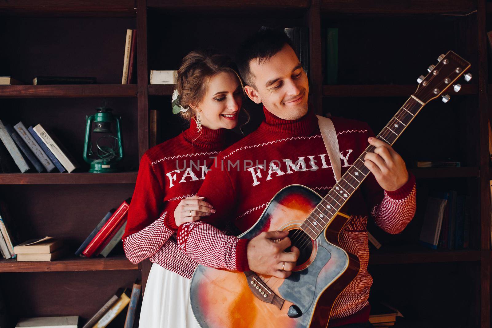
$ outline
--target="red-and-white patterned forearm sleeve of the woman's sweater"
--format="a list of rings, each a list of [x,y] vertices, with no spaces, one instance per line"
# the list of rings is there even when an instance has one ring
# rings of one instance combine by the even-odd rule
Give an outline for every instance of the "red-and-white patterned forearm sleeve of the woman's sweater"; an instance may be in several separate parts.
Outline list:
[[[176,233],[164,224],[167,211],[144,229],[123,238],[123,249],[131,263],[152,257]]]

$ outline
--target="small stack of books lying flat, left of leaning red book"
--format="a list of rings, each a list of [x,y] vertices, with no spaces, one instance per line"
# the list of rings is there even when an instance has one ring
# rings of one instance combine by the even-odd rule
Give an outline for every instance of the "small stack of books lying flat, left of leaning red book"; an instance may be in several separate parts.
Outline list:
[[[14,246],[17,261],[53,261],[65,254],[61,240],[52,237],[30,239]]]

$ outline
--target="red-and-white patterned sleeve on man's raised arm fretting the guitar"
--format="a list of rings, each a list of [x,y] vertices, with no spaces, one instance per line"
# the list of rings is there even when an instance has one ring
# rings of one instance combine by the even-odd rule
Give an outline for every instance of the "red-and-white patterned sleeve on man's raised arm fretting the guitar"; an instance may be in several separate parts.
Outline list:
[[[384,191],[383,200],[371,211],[376,224],[390,234],[402,232],[415,215],[415,196],[415,176],[410,174],[400,189]]]

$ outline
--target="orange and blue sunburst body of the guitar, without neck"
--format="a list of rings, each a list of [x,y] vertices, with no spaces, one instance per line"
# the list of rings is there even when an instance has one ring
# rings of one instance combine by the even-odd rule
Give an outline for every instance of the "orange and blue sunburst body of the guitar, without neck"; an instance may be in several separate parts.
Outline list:
[[[305,186],[287,186],[240,236],[252,239],[263,231],[288,230],[292,244],[302,251],[287,279],[204,266],[196,269],[190,300],[203,328],[327,326],[335,299],[359,272],[359,260],[338,245],[347,215],[337,215],[325,234],[314,240],[300,229],[322,199]],[[291,317],[297,317],[289,317],[289,310]]]

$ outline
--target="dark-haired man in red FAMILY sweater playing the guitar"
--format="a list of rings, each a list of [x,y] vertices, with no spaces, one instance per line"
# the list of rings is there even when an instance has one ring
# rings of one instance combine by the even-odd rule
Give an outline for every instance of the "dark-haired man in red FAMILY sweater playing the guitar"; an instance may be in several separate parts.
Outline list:
[[[336,181],[314,110],[308,108],[307,76],[289,39],[281,31],[261,30],[245,41],[239,54],[237,63],[246,83],[246,94],[255,103],[263,103],[265,120],[256,131],[218,154],[197,193],[216,212],[180,226],[178,243],[190,258],[208,267],[250,269],[285,278],[299,256],[295,246],[284,251],[291,246],[287,233],[262,233],[247,240],[227,236],[217,227],[232,222],[244,232],[281,188],[303,184],[324,196]],[[376,147],[364,158],[364,165],[372,174],[361,192],[352,196],[350,205],[344,207],[351,218],[340,234],[341,246],[359,257],[360,272],[338,297],[330,320],[330,327],[366,327],[372,284],[367,271],[368,213],[383,230],[393,234],[402,231],[415,213],[415,178],[408,174],[395,150],[371,138],[366,123],[332,120],[342,174],[368,142]],[[180,211],[177,208],[175,214]],[[275,242],[276,239],[281,240]]]

